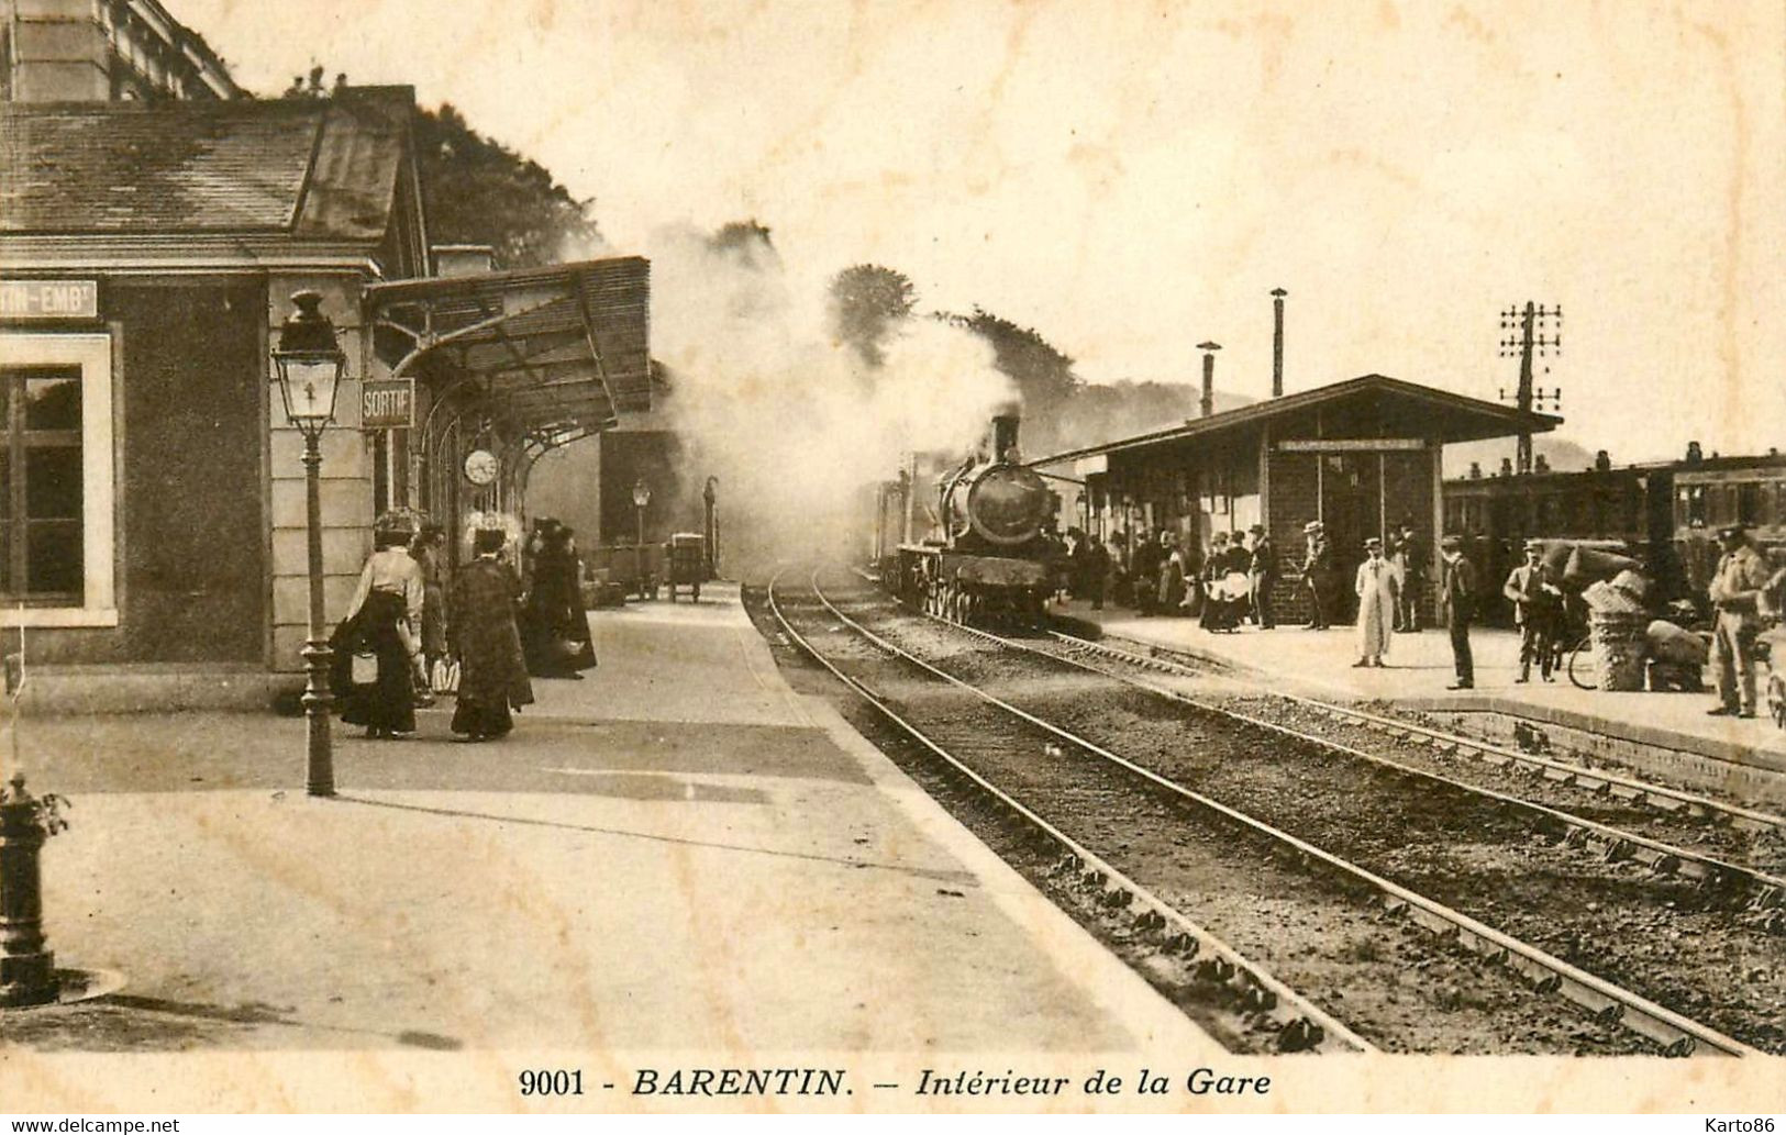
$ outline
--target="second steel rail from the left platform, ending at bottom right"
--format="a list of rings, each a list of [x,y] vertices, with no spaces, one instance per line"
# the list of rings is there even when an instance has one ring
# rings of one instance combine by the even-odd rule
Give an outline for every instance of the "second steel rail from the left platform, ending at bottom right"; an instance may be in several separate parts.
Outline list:
[[[1004,701],[998,696],[989,694],[989,692],[979,689],[977,685],[973,685],[970,682],[964,682],[964,680],[961,680],[961,678],[957,678],[957,676],[954,676],[954,675],[950,675],[950,673],[947,673],[943,669],[938,669],[936,666],[931,666],[923,659],[918,659],[916,655],[913,655],[911,651],[907,651],[907,650],[904,650],[904,648],[900,648],[900,646],[897,646],[897,644],[882,639],[880,635],[873,634],[872,630],[868,630],[866,626],[863,626],[861,623],[857,623],[850,616],[843,614],[836,605],[832,605],[823,596],[823,592],[818,591],[816,582],[814,582],[814,594],[818,594],[820,601],[825,603],[825,607],[832,612],[832,616],[836,616],[841,623],[848,625],[857,634],[861,634],[864,639],[868,639],[870,642],[875,642],[877,646],[880,646],[888,653],[898,655],[898,657],[906,659],[907,662],[911,662],[913,666],[918,666],[920,669],[925,669],[925,671],[929,671],[929,673],[932,673],[932,675],[936,675],[936,676],[939,676],[939,678],[943,678],[943,680],[947,680],[947,682],[950,682],[950,683],[954,683],[954,685],[957,685],[957,687],[972,692],[973,696],[977,696],[977,698],[981,698],[984,701],[989,701],[989,703],[1004,708],[1006,712],[1013,714],[1014,717],[1022,717],[1023,721],[1029,721],[1029,723],[1032,723],[1032,725],[1036,725],[1036,726],[1039,726],[1039,728],[1054,733],[1056,737],[1061,737],[1063,741],[1068,741],[1070,744],[1073,744],[1073,746],[1077,746],[1077,748],[1081,748],[1081,750],[1084,750],[1088,753],[1093,753],[1093,755],[1097,755],[1097,757],[1100,757],[1100,758],[1104,758],[1104,760],[1107,760],[1107,762],[1111,762],[1111,764],[1114,764],[1118,767],[1123,767],[1129,773],[1132,773],[1132,775],[1136,775],[1136,776],[1139,776],[1139,778],[1143,778],[1143,780],[1157,785],[1159,789],[1163,789],[1163,791],[1166,791],[1166,792],[1170,792],[1170,794],[1173,794],[1173,796],[1177,796],[1181,799],[1191,801],[1191,803],[1198,805],[1204,810],[1214,812],[1216,816],[1222,816],[1222,817],[1229,819],[1231,823],[1236,823],[1236,824],[1239,824],[1243,828],[1248,828],[1252,832],[1266,835],[1266,837],[1270,837],[1270,839],[1273,839],[1273,841],[1277,841],[1277,842],[1291,848],[1298,857],[1302,857],[1306,860],[1314,860],[1314,862],[1325,864],[1327,867],[1331,867],[1331,869],[1334,869],[1334,871],[1338,871],[1338,873],[1341,873],[1345,876],[1350,876],[1350,878],[1356,878],[1356,880],[1366,883],[1368,887],[1372,887],[1373,891],[1377,891],[1379,894],[1384,896],[1384,907],[1386,907],[1388,912],[1391,912],[1391,914],[1406,914],[1415,923],[1418,923],[1418,924],[1425,926],[1427,930],[1431,930],[1436,937],[1454,940],[1454,942],[1457,942],[1457,944],[1472,949],[1473,953],[1482,955],[1484,958],[1490,958],[1490,960],[1495,960],[1498,964],[1504,964],[1504,965],[1507,965],[1507,967],[1522,973],[1523,976],[1532,978],[1534,980],[1534,987],[1540,992],[1563,996],[1565,999],[1573,1001],[1575,1005],[1581,1005],[1588,1012],[1595,1014],[1602,1021],[1622,1023],[1625,1028],[1629,1028],[1629,1030],[1632,1030],[1632,1031],[1636,1031],[1636,1033],[1640,1033],[1643,1037],[1648,1037],[1650,1040],[1656,1040],[1657,1044],[1665,1046],[1666,1051],[1668,1051],[1668,1055],[1686,1056],[1686,1055],[1704,1053],[1707,1049],[1711,1053],[1715,1053],[1715,1055],[1729,1055],[1729,1056],[1761,1056],[1763,1055],[1759,1049],[1756,1049],[1756,1048],[1752,1048],[1748,1044],[1743,1044],[1741,1040],[1738,1040],[1734,1037],[1727,1037],[1727,1035],[1713,1030],[1707,1024],[1700,1024],[1698,1021],[1693,1021],[1693,1019],[1684,1017],[1684,1015],[1681,1015],[1681,1014],[1677,1014],[1677,1012],[1673,1012],[1670,1008],[1656,1005],[1654,1001],[1650,1001],[1650,999],[1647,999],[1647,998],[1643,998],[1640,994],[1634,994],[1634,992],[1631,992],[1627,989],[1620,989],[1618,985],[1613,985],[1611,982],[1607,982],[1604,978],[1598,978],[1598,976],[1595,976],[1595,974],[1591,974],[1591,973],[1588,973],[1584,969],[1570,965],[1563,958],[1557,958],[1557,957],[1554,957],[1554,955],[1550,955],[1550,953],[1547,953],[1547,951],[1543,951],[1543,949],[1540,949],[1536,946],[1522,942],[1522,940],[1515,939],[1509,933],[1504,933],[1500,930],[1495,930],[1493,926],[1479,923],[1479,921],[1472,919],[1470,915],[1463,914],[1459,910],[1452,910],[1450,907],[1447,907],[1443,903],[1438,903],[1434,899],[1429,899],[1423,894],[1418,894],[1416,891],[1411,891],[1407,887],[1402,887],[1400,883],[1386,880],[1386,878],[1382,878],[1382,876],[1379,876],[1379,874],[1375,874],[1375,873],[1372,873],[1372,871],[1368,871],[1365,867],[1359,867],[1357,864],[1352,864],[1350,860],[1345,860],[1345,858],[1341,858],[1341,857],[1338,857],[1338,855],[1334,855],[1334,853],[1331,853],[1331,851],[1327,851],[1323,848],[1318,848],[1318,846],[1314,846],[1314,844],[1311,844],[1311,842],[1307,842],[1307,841],[1304,841],[1304,839],[1300,839],[1297,835],[1291,835],[1291,833],[1288,833],[1288,832],[1284,832],[1281,828],[1275,828],[1275,826],[1272,826],[1272,824],[1268,824],[1264,821],[1254,819],[1252,816],[1247,816],[1245,812],[1231,808],[1229,805],[1223,805],[1222,801],[1211,799],[1211,798],[1207,798],[1207,796],[1204,796],[1204,794],[1200,794],[1200,792],[1197,792],[1193,789],[1188,789],[1188,787],[1184,787],[1184,785],[1181,785],[1181,783],[1177,783],[1177,782],[1173,782],[1173,780],[1170,780],[1166,776],[1161,776],[1159,773],[1154,773],[1152,769],[1148,769],[1145,766],[1139,766],[1139,764],[1136,764],[1136,762],[1132,762],[1132,760],[1129,760],[1125,757],[1120,757],[1120,755],[1116,755],[1116,753],[1113,753],[1113,751],[1109,751],[1109,750],[1106,750],[1106,748],[1102,748],[1102,746],[1098,746],[1098,744],[1095,744],[1091,741],[1086,741],[1086,739],[1082,739],[1082,737],[1079,737],[1079,735],[1075,735],[1075,733],[1072,733],[1068,730],[1063,730],[1057,725],[1043,721],[1041,717],[1036,717],[1034,714],[1031,714],[1027,710],[1022,710],[1022,708],[1011,705],[1009,701]],[[948,623],[947,619],[938,619],[938,621]],[[950,626],[959,626],[961,630],[966,630],[966,632],[972,632],[972,634],[977,634],[977,635],[984,635],[984,637],[993,639],[997,642],[1006,642],[1006,639],[998,639],[997,635],[991,635],[989,632],[984,632],[984,630],[979,630],[979,628],[973,628],[973,626],[961,626],[959,623],[948,623],[948,625]],[[1036,651],[1036,653],[1041,653],[1041,651]],[[1229,714],[1229,716],[1238,717],[1234,714]],[[1238,717],[1238,719],[1245,719],[1245,717]],[[1245,721],[1250,723],[1250,719],[1245,719]],[[1298,737],[1302,741],[1309,741],[1307,737],[1304,737],[1300,733],[1295,733],[1293,730],[1286,730],[1286,728],[1272,725],[1272,723],[1257,723],[1257,725],[1264,725],[1266,728],[1270,728],[1273,732],[1288,733],[1288,735]],[[1331,746],[1332,742],[1320,741],[1320,744]]]

